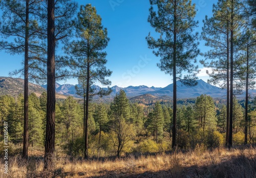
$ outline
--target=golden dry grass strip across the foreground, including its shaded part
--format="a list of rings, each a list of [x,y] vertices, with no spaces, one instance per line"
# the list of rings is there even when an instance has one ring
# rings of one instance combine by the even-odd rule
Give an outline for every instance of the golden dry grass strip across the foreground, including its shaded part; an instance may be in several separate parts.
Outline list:
[[[42,158],[28,163],[10,161],[9,174],[1,177],[256,177],[256,149],[196,149],[185,153],[133,156],[115,161],[69,161],[59,158],[43,170]],[[2,160],[3,162],[3,160]]]

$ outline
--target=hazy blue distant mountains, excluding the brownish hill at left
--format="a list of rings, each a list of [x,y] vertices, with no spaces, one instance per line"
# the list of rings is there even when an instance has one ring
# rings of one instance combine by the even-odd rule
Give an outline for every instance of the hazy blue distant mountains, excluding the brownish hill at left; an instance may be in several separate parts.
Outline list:
[[[225,98],[226,97],[226,90],[222,90],[220,87],[211,85],[206,83],[205,81],[197,80],[198,84],[196,86],[185,86],[180,81],[177,81],[177,97],[178,98],[196,98],[200,95],[209,95],[213,98]],[[42,87],[46,88],[46,85],[42,85]],[[96,89],[96,92],[100,90],[98,85],[93,85]],[[106,90],[106,88],[104,88]],[[119,87],[119,86],[112,86],[111,87],[112,93],[109,96],[105,96],[103,98],[113,98],[116,94],[123,90],[126,93],[127,97],[136,97],[140,95],[150,94],[151,96],[161,97],[165,96],[167,98],[173,97],[173,83],[169,84],[168,86],[161,88],[161,87],[148,87],[145,85],[140,86],[128,86],[128,87]],[[58,84],[56,83],[56,92],[62,95],[71,95],[74,97],[79,97],[76,95],[75,85],[71,84]],[[250,91],[251,96],[256,96],[256,90]],[[240,95],[243,97],[244,95]]]

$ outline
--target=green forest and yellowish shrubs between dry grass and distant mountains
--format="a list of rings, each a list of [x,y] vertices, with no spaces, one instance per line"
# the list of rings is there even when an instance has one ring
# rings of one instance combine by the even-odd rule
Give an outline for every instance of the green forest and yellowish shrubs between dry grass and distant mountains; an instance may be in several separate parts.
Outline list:
[[[110,103],[89,105],[89,157],[123,157],[130,153],[154,153],[172,150],[172,103],[133,103],[120,91]],[[10,143],[23,141],[23,95],[0,96],[0,116],[8,123]],[[29,149],[44,147],[46,130],[46,92],[38,98],[29,95]],[[225,145],[226,106],[219,100],[201,95],[180,100],[177,112],[177,148],[208,149]],[[234,100],[233,145],[244,143],[244,109]],[[256,100],[250,103],[248,144],[256,140]],[[83,156],[83,104],[69,96],[56,103],[56,147],[73,159]],[[4,129],[0,125],[1,130]],[[2,136],[4,135],[1,132]],[[0,139],[0,141],[3,141]],[[31,147],[31,148],[30,148]]]

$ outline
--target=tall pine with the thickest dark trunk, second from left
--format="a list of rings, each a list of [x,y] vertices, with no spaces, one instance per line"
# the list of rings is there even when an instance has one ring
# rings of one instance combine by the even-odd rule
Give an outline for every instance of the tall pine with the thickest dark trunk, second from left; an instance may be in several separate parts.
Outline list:
[[[44,169],[53,167],[55,150],[55,50],[56,42],[71,34],[72,16],[77,4],[73,1],[47,1],[47,105],[46,105],[46,142]],[[56,11],[55,11],[56,10]],[[56,33],[55,33],[56,32]]]

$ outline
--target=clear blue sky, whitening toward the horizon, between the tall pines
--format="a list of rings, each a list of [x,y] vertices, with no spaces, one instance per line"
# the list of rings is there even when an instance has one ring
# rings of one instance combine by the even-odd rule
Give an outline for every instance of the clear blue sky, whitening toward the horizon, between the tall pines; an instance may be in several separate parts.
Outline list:
[[[216,1],[193,0],[199,20],[197,32],[201,32],[202,20],[205,15],[212,15],[212,4]],[[172,77],[161,72],[157,67],[159,58],[153,55],[152,50],[147,48],[145,37],[154,29],[147,22],[148,0],[79,0],[80,5],[88,3],[96,7],[97,13],[102,18],[102,25],[108,29],[110,42],[105,51],[108,53],[107,68],[113,71],[109,78],[113,85],[126,87],[129,85],[147,85],[165,87],[173,83]],[[200,50],[205,51],[204,41],[200,41]],[[22,68],[23,56],[11,56],[0,52],[2,56],[0,76],[8,76],[9,72]],[[198,61],[202,59],[198,57]],[[202,69],[203,66],[200,65]],[[15,77],[15,76],[14,76]],[[199,78],[207,80],[205,69],[199,74]],[[65,81],[60,81],[63,84]],[[66,83],[76,84],[72,79]],[[96,83],[98,84],[98,83]]]

